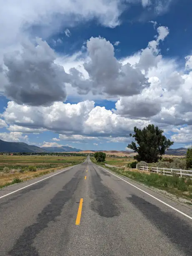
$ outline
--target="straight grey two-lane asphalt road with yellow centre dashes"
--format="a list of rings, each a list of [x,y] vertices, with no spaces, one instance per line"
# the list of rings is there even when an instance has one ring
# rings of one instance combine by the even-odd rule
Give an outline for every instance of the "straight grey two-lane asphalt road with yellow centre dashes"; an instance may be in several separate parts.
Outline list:
[[[192,220],[154,197],[190,207],[89,159],[49,176],[0,190],[0,256],[192,255]]]

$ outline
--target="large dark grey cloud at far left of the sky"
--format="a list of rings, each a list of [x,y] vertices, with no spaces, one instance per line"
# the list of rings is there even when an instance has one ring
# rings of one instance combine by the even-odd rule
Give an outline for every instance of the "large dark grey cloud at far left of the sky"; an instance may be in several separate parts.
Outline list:
[[[37,39],[37,46],[27,42],[21,52],[6,54],[7,97],[18,104],[36,106],[65,100],[65,82],[69,82],[69,74],[54,63],[55,58],[54,51],[40,39]]]

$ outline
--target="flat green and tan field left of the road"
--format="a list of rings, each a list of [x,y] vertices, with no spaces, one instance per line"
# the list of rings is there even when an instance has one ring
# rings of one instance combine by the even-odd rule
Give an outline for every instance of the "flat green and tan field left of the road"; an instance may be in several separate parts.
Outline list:
[[[40,177],[67,166],[80,164],[85,158],[85,156],[0,155],[0,188],[27,179]],[[34,167],[36,167],[36,171]],[[33,171],[30,171],[30,169],[33,169]]]

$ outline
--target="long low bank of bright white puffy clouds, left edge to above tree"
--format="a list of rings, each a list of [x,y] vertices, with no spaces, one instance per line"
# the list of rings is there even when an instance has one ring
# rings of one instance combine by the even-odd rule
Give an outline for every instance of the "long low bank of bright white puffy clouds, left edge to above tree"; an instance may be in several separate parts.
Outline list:
[[[47,129],[60,134],[60,139],[89,141],[98,136],[127,136],[136,125],[144,127],[145,120],[120,117],[111,110],[86,100],[77,104],[55,102],[50,107],[18,105],[8,102],[2,116],[12,125],[30,129]]]

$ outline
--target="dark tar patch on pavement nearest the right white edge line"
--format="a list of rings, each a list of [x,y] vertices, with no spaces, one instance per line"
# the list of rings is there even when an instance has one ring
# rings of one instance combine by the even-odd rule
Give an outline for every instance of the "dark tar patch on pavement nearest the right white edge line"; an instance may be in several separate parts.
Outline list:
[[[192,228],[174,213],[164,212],[141,197],[132,195],[127,200],[139,209],[167,238],[186,255],[192,255]],[[185,217],[184,217],[185,218]]]

